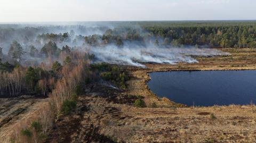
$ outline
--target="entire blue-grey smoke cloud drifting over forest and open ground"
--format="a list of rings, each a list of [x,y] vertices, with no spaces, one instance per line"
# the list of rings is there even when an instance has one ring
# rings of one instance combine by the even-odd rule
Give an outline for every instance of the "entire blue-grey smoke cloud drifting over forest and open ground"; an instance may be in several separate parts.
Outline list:
[[[104,44],[105,41],[103,41],[102,37],[103,35],[108,35],[109,31],[111,31],[110,33],[112,36],[122,38],[122,43],[124,45],[116,46],[115,42],[110,42],[107,45]],[[61,33],[64,32],[68,32],[69,34],[69,38],[65,41],[54,41],[51,36],[50,38],[45,38],[46,33],[55,33],[57,35],[61,35]],[[127,35],[129,32],[135,33],[134,35],[137,37],[135,38],[136,40],[126,39],[127,37],[124,35]],[[85,41],[86,36],[94,36],[100,38],[89,38],[92,41],[96,41],[90,45]],[[74,50],[94,54],[97,57],[96,62],[107,62],[112,64],[133,65],[141,67],[145,66],[142,64],[144,62],[154,62],[160,64],[175,64],[178,62],[195,63],[197,61],[191,56],[228,55],[228,53],[211,48],[177,48],[171,46],[167,47],[161,44],[159,44],[160,46],[155,46],[156,40],[158,40],[159,43],[163,43],[164,39],[151,35],[145,29],[142,29],[134,24],[131,26],[123,27],[122,24],[118,22],[89,22],[69,24],[34,23],[17,25],[0,24],[0,47],[3,47],[3,53],[6,55],[4,58],[5,61],[9,61],[10,59],[10,57],[7,56],[7,52],[13,40],[17,40],[25,52],[22,55],[22,60],[20,62],[22,65],[37,65],[41,62],[47,62],[46,56],[44,55],[37,57],[30,56],[29,46],[34,45],[38,51],[41,51],[41,48],[49,41],[54,41],[60,49],[62,46],[68,45]],[[53,57],[52,60],[58,60],[58,58]]]

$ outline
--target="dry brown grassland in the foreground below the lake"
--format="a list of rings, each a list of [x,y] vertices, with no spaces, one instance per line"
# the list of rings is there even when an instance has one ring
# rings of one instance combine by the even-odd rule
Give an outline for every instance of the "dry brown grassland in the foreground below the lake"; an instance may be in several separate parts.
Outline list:
[[[255,142],[255,113],[255,106],[135,108],[81,96],[50,142]]]

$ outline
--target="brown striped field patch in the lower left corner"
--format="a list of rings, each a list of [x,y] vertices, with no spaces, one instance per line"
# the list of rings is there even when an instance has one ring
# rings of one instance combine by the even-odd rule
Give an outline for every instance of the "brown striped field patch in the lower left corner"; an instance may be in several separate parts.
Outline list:
[[[10,142],[15,128],[26,119],[32,120],[38,108],[46,103],[47,99],[30,96],[0,98],[0,142]]]

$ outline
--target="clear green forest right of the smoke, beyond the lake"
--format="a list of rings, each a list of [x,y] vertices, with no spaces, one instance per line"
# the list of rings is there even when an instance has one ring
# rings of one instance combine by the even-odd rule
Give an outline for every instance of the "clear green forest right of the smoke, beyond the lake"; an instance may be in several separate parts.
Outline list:
[[[255,26],[147,27],[151,35],[163,38],[162,45],[209,45],[217,47],[255,47]]]

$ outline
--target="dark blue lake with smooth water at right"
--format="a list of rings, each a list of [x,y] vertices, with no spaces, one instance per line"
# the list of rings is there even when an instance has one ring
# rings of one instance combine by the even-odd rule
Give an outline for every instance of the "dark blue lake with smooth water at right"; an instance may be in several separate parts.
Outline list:
[[[247,105],[256,102],[256,71],[172,71],[149,73],[148,87],[186,105]]]

